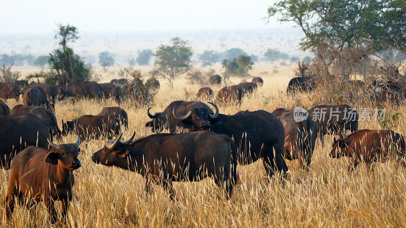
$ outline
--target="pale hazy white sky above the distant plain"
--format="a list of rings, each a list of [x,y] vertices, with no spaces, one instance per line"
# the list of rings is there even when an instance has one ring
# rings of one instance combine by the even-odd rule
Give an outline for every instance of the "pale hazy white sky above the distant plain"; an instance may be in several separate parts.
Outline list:
[[[2,0],[0,34],[52,32],[57,23],[79,31],[166,31],[266,28],[274,0]]]

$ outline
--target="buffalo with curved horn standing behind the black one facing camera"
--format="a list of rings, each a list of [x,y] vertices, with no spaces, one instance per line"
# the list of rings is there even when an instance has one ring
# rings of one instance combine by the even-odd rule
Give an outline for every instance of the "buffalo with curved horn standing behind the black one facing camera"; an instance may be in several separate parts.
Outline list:
[[[145,124],[145,127],[152,127],[152,132],[160,132],[163,129],[168,129],[171,133],[176,132],[176,127],[179,125],[180,121],[174,117],[173,111],[175,105],[179,104],[177,111],[179,115],[186,115],[190,110],[195,110],[196,112],[201,111],[202,109],[208,110],[208,112],[213,113],[213,110],[205,103],[200,101],[183,101],[177,100],[169,104],[163,112],[156,112],[152,115],[148,108],[148,117],[152,119]],[[207,123],[200,123],[201,125]]]

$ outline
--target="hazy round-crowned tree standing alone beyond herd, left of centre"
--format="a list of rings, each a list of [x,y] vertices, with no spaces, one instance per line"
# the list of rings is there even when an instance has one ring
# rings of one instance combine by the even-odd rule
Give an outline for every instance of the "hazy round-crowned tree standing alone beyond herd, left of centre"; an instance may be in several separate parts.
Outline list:
[[[155,52],[153,75],[167,79],[173,88],[172,80],[191,68],[193,50],[187,41],[175,37],[170,45],[160,45]]]

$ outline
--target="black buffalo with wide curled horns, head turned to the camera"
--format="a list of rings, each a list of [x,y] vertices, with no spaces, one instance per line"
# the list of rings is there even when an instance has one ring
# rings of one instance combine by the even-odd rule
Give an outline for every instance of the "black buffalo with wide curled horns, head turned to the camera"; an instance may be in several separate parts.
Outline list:
[[[258,110],[240,115],[219,114],[218,107],[212,115],[206,109],[199,112],[192,110],[185,116],[179,116],[174,108],[174,115],[179,120],[179,126],[189,130],[210,129],[218,134],[225,134],[234,139],[239,147],[239,163],[248,165],[262,158],[268,177],[274,175],[274,170],[281,171],[284,178],[288,167],[284,159],[285,130],[281,121],[271,113]],[[202,124],[205,123],[205,124]],[[276,167],[275,163],[276,161]]]

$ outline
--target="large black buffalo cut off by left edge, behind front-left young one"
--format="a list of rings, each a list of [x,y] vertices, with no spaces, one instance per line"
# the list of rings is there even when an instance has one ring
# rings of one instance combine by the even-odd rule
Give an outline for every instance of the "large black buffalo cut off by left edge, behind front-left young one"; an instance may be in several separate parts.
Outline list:
[[[30,145],[48,148],[51,128],[33,115],[0,116],[0,161],[5,169],[11,159]]]

